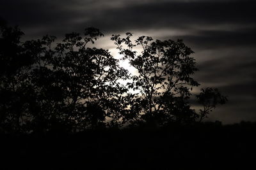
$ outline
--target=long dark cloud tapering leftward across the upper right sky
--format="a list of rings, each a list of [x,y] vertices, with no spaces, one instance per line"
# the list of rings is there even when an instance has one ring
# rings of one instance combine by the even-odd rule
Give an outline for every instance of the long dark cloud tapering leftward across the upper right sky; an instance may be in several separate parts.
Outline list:
[[[105,10],[106,27],[148,29],[157,27],[190,28],[216,24],[255,24],[255,2],[162,2]],[[101,16],[102,17],[102,16]],[[99,25],[99,18],[91,20]]]

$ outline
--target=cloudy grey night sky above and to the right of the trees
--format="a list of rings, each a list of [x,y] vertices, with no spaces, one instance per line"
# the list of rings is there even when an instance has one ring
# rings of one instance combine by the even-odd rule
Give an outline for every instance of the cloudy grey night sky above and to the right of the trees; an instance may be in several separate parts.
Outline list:
[[[256,1],[246,0],[1,0],[0,17],[19,25],[25,39],[97,27],[103,48],[111,34],[183,39],[195,52],[201,87],[228,97],[208,120],[256,121]]]

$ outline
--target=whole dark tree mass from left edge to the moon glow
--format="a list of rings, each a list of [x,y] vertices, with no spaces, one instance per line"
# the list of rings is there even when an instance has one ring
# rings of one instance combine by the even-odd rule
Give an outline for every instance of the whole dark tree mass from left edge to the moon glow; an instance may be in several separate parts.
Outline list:
[[[128,73],[108,50],[88,43],[103,36],[88,28],[84,39],[66,34],[20,43],[22,32],[1,25],[1,127],[8,132],[81,131],[119,127]],[[53,47],[52,47],[53,46]],[[108,122],[106,122],[108,118]]]

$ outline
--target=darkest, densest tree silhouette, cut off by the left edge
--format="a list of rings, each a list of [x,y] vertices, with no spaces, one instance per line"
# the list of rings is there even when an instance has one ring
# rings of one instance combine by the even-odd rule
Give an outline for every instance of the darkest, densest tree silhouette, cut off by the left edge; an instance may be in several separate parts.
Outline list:
[[[18,27],[0,21],[0,125],[8,131],[21,131],[26,113],[26,83],[33,60],[24,55]]]

